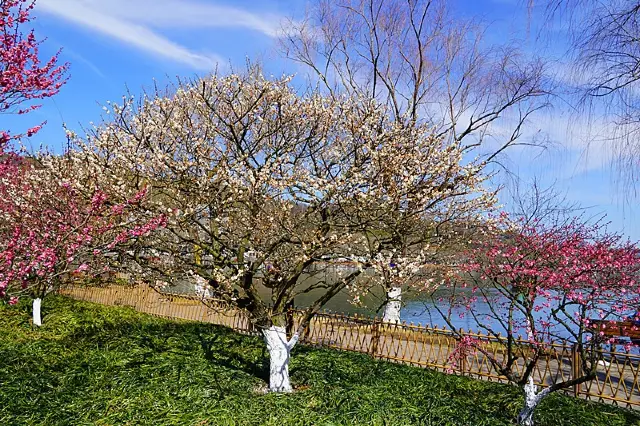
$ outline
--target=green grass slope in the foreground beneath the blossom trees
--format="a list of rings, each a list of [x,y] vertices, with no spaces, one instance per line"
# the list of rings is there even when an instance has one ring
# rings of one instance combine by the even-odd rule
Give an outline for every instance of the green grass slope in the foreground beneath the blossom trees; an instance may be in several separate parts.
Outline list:
[[[0,425],[511,425],[511,386],[294,349],[290,395],[261,394],[258,338],[49,297],[0,306]],[[640,425],[636,413],[556,395],[539,425]]]

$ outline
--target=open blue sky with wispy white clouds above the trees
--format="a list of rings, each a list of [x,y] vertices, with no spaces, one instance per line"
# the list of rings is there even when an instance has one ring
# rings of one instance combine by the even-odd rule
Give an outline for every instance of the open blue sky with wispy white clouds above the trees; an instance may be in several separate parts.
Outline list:
[[[490,24],[487,41],[515,38],[528,52],[551,60],[552,70],[565,72],[566,50],[562,27],[549,25],[552,36],[536,37],[540,11],[528,19],[526,0],[458,0],[456,13]],[[28,143],[56,151],[65,143],[62,123],[74,130],[99,122],[102,105],[117,101],[128,87],[134,94],[154,79],[164,85],[175,76],[191,77],[242,68],[247,57],[260,59],[267,72],[280,75],[296,69],[275,52],[277,31],[284,17],[302,17],[304,0],[37,0],[34,22],[39,37],[48,40],[44,55],[62,48],[71,63],[70,80],[59,95],[24,117],[0,117],[0,127],[25,129],[40,121],[47,126]],[[529,137],[547,136],[546,151],[517,148],[507,159],[512,171],[542,184],[555,183],[571,201],[605,213],[611,228],[640,239],[634,220],[637,200],[625,197],[611,168],[612,150],[593,137],[607,136],[606,126],[587,122],[562,102],[534,117]],[[589,146],[587,150],[586,147]]]

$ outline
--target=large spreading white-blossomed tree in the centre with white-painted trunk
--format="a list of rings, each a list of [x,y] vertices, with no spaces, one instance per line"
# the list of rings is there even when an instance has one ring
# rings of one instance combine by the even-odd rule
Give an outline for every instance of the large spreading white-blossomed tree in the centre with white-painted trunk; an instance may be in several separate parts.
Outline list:
[[[73,137],[70,158],[122,193],[116,198],[149,188],[141,209],[167,215],[167,224],[132,257],[166,281],[191,271],[215,298],[245,309],[269,350],[272,391],[291,391],[290,352],[312,316],[343,289],[357,294],[365,280],[356,278],[393,258],[403,230],[471,217],[494,202],[482,189],[484,162],[464,164],[457,141],[403,126],[370,98],[299,94],[290,78],[268,80],[255,68],[127,97],[108,113]],[[172,262],[145,262],[139,254],[151,248]],[[428,251],[411,249],[416,259]],[[302,282],[337,254],[358,266]],[[311,292],[287,335],[293,298]]]

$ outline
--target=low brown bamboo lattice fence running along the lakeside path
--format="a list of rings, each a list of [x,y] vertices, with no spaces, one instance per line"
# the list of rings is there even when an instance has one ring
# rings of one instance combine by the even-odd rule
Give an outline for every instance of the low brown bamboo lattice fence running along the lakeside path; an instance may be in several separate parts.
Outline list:
[[[203,301],[196,296],[164,293],[145,285],[70,286],[61,293],[103,305],[131,306],[160,317],[213,323],[243,334],[258,334],[244,311],[216,301]],[[300,320],[301,314],[302,311],[292,311],[294,323]],[[502,345],[496,344],[497,338],[462,333],[480,340],[487,352],[502,356]],[[454,334],[443,328],[387,323],[379,318],[328,312],[315,315],[301,338],[301,343],[306,345],[360,352],[377,359],[447,372],[452,370],[450,355],[456,342]],[[598,364],[596,378],[567,392],[579,398],[640,409],[640,354],[616,350],[601,352],[603,361]],[[549,386],[570,379],[578,374],[579,363],[579,353],[572,343],[554,343],[536,364],[534,380],[540,386]],[[524,365],[519,364],[518,368],[524,368]],[[464,357],[453,372],[489,381],[506,381],[479,352]]]

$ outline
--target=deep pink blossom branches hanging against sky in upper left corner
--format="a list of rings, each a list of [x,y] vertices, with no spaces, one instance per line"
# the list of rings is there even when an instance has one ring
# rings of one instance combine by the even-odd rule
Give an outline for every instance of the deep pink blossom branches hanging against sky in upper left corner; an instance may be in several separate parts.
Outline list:
[[[26,114],[40,107],[30,104],[37,99],[57,94],[67,81],[67,63],[58,64],[58,53],[44,63],[38,56],[42,41],[32,29],[23,28],[34,18],[31,12],[35,1],[0,0],[0,113]],[[28,104],[28,105],[25,105]],[[42,124],[26,131],[32,136]],[[10,140],[22,134],[11,135],[0,129],[0,152]]]

